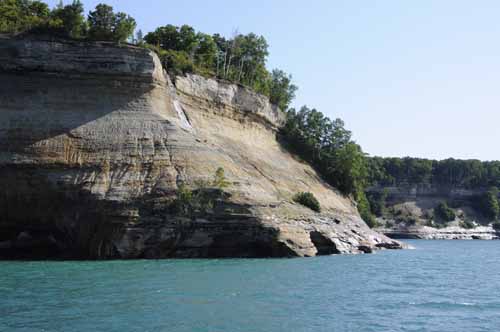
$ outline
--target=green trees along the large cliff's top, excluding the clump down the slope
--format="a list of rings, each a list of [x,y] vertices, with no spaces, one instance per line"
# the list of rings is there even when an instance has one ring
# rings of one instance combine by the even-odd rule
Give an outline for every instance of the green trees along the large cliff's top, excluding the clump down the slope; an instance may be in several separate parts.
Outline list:
[[[173,76],[197,73],[243,84],[269,97],[270,102],[286,110],[297,87],[282,70],[266,68],[268,44],[254,33],[220,34],[197,32],[193,27],[165,25],[143,35],[130,15],[98,4],[84,16],[83,4],[62,1],[53,8],[42,1],[0,0],[0,33],[39,33],[63,38],[130,42],[153,49]]]

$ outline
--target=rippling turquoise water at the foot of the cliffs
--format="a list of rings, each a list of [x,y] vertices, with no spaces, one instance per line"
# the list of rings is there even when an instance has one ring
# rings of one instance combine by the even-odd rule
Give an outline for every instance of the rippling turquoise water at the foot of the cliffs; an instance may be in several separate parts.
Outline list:
[[[500,241],[268,260],[0,262],[1,331],[498,331]]]

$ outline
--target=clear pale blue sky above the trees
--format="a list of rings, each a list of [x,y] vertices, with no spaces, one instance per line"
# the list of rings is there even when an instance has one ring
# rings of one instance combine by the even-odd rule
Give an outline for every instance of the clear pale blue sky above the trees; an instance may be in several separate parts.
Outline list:
[[[299,86],[294,105],[342,118],[371,155],[500,159],[500,1],[82,2],[125,11],[145,33],[265,36],[269,67]]]

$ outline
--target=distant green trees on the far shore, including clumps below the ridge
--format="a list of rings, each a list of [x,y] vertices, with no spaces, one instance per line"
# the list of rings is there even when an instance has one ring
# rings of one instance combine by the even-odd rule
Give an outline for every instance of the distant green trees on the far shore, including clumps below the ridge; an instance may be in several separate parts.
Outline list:
[[[471,197],[470,204],[490,221],[500,217],[500,161],[369,157],[366,164],[368,186],[439,185],[481,189],[482,193]],[[367,195],[372,212],[382,216],[387,190]],[[441,202],[434,209],[438,221],[455,219],[452,212],[447,202]]]

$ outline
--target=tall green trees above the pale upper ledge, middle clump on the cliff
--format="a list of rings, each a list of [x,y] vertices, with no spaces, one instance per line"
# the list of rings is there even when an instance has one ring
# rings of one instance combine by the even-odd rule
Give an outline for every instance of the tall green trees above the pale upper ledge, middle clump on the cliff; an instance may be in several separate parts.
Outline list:
[[[197,73],[243,84],[269,97],[286,110],[297,87],[290,75],[266,69],[268,44],[254,33],[235,33],[230,39],[220,34],[196,32],[193,27],[166,25],[144,36],[173,75]]]

